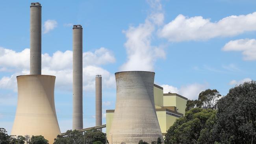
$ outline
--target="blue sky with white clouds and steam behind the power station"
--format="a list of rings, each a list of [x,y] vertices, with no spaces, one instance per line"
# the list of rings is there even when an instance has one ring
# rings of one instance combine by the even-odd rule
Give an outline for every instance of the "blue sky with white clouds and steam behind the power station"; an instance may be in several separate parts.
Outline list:
[[[16,76],[29,74],[30,3],[0,1],[0,127],[11,131]],[[114,73],[156,72],[165,92],[195,99],[255,79],[256,1],[39,1],[42,74],[56,76],[61,132],[72,128],[72,25],[83,26],[83,122],[95,125],[95,75],[103,113],[115,108]],[[103,118],[105,123],[105,118]]]

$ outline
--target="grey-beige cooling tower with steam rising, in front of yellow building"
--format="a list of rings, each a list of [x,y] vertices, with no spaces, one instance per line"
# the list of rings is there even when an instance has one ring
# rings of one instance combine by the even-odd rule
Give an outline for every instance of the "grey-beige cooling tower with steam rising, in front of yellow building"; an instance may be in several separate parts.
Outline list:
[[[154,75],[145,71],[115,73],[117,99],[109,144],[151,143],[163,138],[154,105]]]

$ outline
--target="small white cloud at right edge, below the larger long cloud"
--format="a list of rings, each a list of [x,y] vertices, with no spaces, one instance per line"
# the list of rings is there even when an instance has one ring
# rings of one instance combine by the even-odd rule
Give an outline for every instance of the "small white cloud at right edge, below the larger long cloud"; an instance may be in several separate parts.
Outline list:
[[[242,51],[244,60],[256,60],[256,39],[238,39],[229,41],[223,47],[224,51]]]

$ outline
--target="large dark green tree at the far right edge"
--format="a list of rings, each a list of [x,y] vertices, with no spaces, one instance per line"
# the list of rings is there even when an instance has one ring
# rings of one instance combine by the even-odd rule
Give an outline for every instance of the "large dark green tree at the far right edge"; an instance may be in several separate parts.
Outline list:
[[[229,90],[217,103],[217,141],[256,144],[256,81]]]

